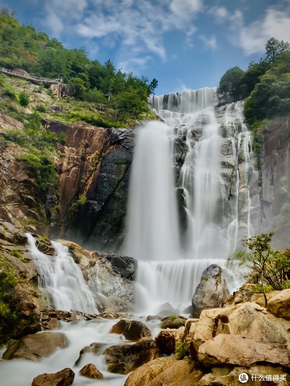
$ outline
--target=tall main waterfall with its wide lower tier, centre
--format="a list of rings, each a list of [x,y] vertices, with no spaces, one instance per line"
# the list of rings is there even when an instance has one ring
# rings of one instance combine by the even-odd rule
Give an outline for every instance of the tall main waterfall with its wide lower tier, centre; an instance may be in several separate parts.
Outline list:
[[[169,96],[154,96],[151,100],[152,107],[165,122],[162,146],[159,146],[161,142],[155,142],[158,134],[154,122],[149,122],[140,129],[136,136],[125,245],[126,253],[133,252],[133,256],[143,260],[138,262],[136,304],[148,313],[156,313],[167,302],[179,310],[188,306],[202,271],[212,263],[225,268],[228,255],[237,245],[240,145],[237,146],[236,141],[241,144],[243,137],[243,152],[247,152],[247,149],[250,152],[244,138],[249,138],[250,141],[251,137],[244,130],[242,105],[236,104],[235,117],[227,109],[223,114],[224,124],[230,118],[227,129],[239,119],[242,126],[242,134],[237,134],[234,130],[229,139],[234,158],[231,178],[235,181],[234,188],[229,191],[224,170],[228,165],[222,165],[221,162],[224,142],[214,110],[214,95],[214,88],[204,88],[172,93]],[[161,130],[160,125],[162,124],[158,123],[158,130]],[[172,173],[174,163],[175,155],[169,155],[169,146],[174,149],[174,141],[184,137],[186,156],[176,185],[184,195],[187,230],[185,245],[178,248],[179,234],[178,237],[172,234],[172,221],[178,223],[176,215],[170,215],[169,212],[162,215],[166,219],[162,226],[159,217],[165,208],[168,211],[168,208],[172,209],[177,205],[172,201],[172,192],[176,191],[176,186],[164,182],[164,173]],[[161,159],[166,160],[166,168],[160,168],[156,164]],[[146,189],[150,187],[152,192],[152,186],[162,186],[162,194],[150,195]],[[143,196],[138,195],[138,191]],[[170,205],[168,197],[171,197]],[[149,202],[155,208],[152,212],[148,208]],[[145,226],[142,228],[142,225]],[[172,259],[172,251],[174,260],[168,261]],[[228,286],[230,289],[239,286],[239,283],[230,278],[229,273]]]

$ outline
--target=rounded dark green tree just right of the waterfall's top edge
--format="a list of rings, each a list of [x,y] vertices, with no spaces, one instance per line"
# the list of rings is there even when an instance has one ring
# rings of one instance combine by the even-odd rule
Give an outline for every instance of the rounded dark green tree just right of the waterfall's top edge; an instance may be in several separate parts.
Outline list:
[[[239,67],[232,67],[223,74],[217,88],[218,100],[222,103],[235,102],[241,98],[240,82],[244,71]]]

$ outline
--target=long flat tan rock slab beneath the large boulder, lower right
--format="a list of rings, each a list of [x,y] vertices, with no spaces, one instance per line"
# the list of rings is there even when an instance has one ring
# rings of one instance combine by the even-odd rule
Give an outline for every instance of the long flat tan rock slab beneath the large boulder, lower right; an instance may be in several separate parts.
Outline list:
[[[290,367],[290,353],[285,346],[229,334],[218,334],[203,343],[198,349],[198,360],[207,367],[251,366],[257,362]]]

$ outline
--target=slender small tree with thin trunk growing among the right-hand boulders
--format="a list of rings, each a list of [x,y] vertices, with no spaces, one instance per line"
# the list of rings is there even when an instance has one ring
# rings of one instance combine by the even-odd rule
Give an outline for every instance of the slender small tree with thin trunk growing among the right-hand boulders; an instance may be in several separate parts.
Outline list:
[[[258,236],[250,237],[249,239],[242,240],[244,246],[250,249],[252,253],[247,256],[247,259],[254,265],[254,268],[261,274],[261,286],[263,295],[265,298],[265,307],[267,307],[267,297],[264,291],[263,279],[264,271],[266,268],[266,262],[269,256],[272,254],[270,242],[275,232],[268,234],[261,234]]]

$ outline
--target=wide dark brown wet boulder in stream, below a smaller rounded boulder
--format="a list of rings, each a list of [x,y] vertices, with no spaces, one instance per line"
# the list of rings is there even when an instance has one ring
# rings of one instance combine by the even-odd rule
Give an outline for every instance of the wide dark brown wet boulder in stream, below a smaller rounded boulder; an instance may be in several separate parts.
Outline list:
[[[133,345],[115,345],[103,352],[108,371],[128,374],[142,364],[159,356],[159,348],[153,339],[142,338]]]

